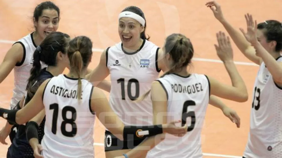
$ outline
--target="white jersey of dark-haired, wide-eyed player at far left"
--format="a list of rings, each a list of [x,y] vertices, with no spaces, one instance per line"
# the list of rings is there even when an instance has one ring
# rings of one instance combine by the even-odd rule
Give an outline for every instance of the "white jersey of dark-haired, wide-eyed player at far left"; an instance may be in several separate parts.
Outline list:
[[[13,97],[11,99],[10,108],[13,109],[17,103],[25,95],[26,85],[30,76],[30,70],[33,64],[33,53],[36,45],[33,41],[33,33],[19,39],[16,43],[20,43],[24,48],[24,55],[21,63],[17,63],[14,67],[14,89]],[[42,69],[46,67],[42,64]]]

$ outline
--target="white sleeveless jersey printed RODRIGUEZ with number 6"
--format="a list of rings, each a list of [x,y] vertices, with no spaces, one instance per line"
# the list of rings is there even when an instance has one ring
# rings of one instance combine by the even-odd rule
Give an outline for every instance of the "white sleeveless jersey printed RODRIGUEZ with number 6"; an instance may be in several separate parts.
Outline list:
[[[168,74],[157,79],[167,93],[167,122],[182,120],[188,125],[183,137],[165,134],[165,139],[147,153],[147,158],[201,158],[201,131],[210,97],[205,75]]]

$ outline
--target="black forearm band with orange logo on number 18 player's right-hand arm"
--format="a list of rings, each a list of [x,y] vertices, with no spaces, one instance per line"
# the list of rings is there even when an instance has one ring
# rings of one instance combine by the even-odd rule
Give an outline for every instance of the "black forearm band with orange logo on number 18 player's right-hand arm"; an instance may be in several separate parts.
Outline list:
[[[163,133],[162,124],[151,125],[151,126],[124,126],[123,139],[124,140],[144,139],[146,137],[151,137],[162,133]]]

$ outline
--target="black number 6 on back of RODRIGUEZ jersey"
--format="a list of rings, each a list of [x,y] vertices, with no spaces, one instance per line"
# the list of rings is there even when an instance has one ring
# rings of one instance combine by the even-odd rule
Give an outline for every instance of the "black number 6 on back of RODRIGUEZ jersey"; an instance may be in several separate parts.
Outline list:
[[[194,129],[195,123],[196,123],[196,116],[194,111],[189,111],[188,106],[195,106],[196,103],[193,100],[187,100],[183,104],[183,109],[182,109],[182,122],[181,126],[184,126],[186,124],[186,119],[187,117],[191,117],[191,125],[188,127],[188,132],[192,131]]]

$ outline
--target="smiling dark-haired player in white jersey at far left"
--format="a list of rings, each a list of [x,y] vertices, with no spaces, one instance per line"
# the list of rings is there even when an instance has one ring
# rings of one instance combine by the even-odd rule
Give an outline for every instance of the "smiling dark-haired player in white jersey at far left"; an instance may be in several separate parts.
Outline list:
[[[14,89],[10,103],[10,109],[17,108],[17,103],[24,96],[27,80],[33,63],[33,52],[43,39],[58,29],[60,9],[51,1],[45,1],[35,7],[33,12],[33,24],[35,31],[24,36],[13,44],[5,55],[0,65],[0,82],[14,69]],[[23,100],[22,100],[23,101]],[[5,139],[9,135],[13,142],[17,126],[6,123],[0,132],[0,142],[7,144]]]

